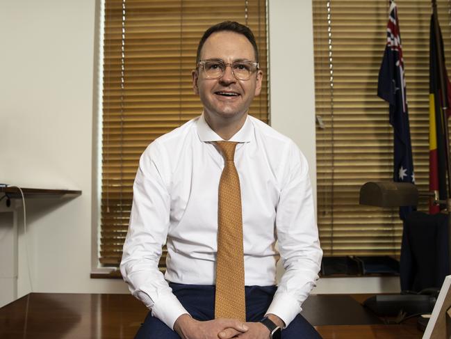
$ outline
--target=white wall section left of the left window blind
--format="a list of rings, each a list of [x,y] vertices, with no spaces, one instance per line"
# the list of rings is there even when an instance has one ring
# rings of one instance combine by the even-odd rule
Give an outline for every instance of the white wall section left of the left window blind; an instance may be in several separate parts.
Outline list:
[[[15,0],[0,10],[0,182],[83,191],[27,200],[35,292],[127,291],[90,279],[95,3]],[[30,286],[19,226],[20,297]]]

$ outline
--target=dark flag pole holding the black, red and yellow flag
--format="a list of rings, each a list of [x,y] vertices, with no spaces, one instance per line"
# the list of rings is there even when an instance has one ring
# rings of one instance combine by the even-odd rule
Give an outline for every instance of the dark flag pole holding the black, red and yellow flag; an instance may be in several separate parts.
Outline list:
[[[436,52],[438,59],[438,76],[440,77],[440,87],[441,87],[441,108],[443,117],[443,129],[445,132],[445,159],[448,169],[448,194],[446,197],[446,210],[448,212],[448,259],[450,260],[450,271],[451,273],[451,161],[450,161],[450,134],[448,129],[448,84],[445,81],[445,66],[443,64],[443,46],[440,31],[438,29],[438,15],[437,15],[437,3],[436,0],[432,0],[432,11],[434,17],[434,36],[436,40]]]

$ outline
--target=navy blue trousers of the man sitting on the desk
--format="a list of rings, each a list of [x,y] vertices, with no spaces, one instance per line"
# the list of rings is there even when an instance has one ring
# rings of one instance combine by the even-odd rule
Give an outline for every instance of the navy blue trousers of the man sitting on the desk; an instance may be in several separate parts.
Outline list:
[[[170,283],[172,292],[186,308],[188,313],[201,321],[213,320],[215,317],[215,286],[208,285],[181,285]],[[246,321],[259,322],[270,306],[272,297],[276,292],[275,286],[246,286]],[[293,322],[282,330],[282,339],[318,339],[321,336],[307,322],[302,315],[297,315]],[[135,339],[180,339],[163,322],[151,313],[147,315]]]

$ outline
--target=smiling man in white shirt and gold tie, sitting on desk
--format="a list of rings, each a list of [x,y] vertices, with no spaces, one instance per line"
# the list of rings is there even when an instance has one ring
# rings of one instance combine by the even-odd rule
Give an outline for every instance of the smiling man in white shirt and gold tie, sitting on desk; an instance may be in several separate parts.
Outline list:
[[[258,61],[246,26],[208,29],[192,72],[202,116],[140,159],[120,267],[151,309],[136,338],[320,338],[299,314],[322,257],[308,165],[293,141],[247,115]]]

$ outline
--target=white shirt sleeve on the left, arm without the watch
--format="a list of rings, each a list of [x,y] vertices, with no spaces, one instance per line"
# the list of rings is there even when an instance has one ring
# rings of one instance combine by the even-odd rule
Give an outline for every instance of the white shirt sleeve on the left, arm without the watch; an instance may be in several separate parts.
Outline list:
[[[170,195],[160,168],[162,163],[158,143],[151,143],[140,158],[133,184],[133,205],[120,271],[131,294],[173,329],[177,318],[188,312],[158,269],[170,222]]]

